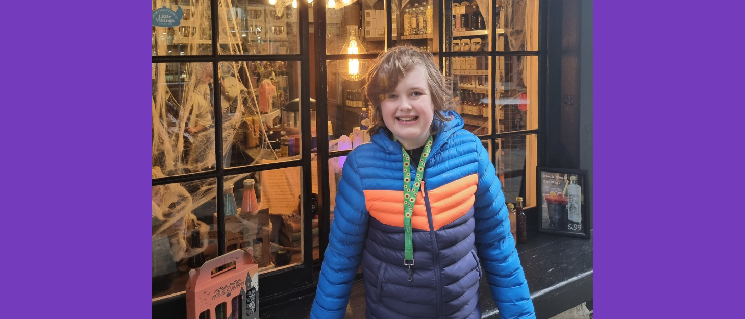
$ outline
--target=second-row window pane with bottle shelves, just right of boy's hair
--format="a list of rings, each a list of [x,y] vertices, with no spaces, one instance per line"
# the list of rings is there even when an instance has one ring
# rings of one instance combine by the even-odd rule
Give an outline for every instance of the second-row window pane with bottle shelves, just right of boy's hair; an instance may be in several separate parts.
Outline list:
[[[476,135],[491,132],[491,60],[489,57],[447,57],[446,72],[454,78],[455,112],[463,117],[463,128]]]

